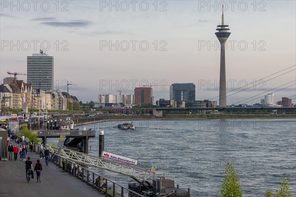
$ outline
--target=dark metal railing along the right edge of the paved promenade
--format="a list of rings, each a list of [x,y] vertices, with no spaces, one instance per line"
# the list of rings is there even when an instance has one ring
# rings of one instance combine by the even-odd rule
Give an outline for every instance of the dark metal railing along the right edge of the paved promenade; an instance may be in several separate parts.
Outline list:
[[[35,150],[40,153],[39,145],[35,144]],[[104,193],[106,197],[144,197],[132,190],[129,190],[114,181],[101,176],[96,172],[90,171],[87,167],[71,162],[70,160],[63,158],[53,152],[49,160],[51,163],[56,164],[64,171],[69,172],[82,182],[92,186],[99,192]],[[107,192],[106,192],[107,191]]]

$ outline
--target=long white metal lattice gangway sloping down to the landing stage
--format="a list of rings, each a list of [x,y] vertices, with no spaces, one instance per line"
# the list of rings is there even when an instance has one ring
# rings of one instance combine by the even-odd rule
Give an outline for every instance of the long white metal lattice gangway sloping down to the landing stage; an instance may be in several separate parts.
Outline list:
[[[152,180],[155,179],[155,166],[152,166],[150,171],[138,168],[136,166],[123,164],[120,162],[113,162],[108,159],[91,156],[85,153],[73,151],[67,148],[60,148],[59,146],[54,146],[50,144],[46,144],[48,150],[52,153],[60,155],[60,157],[68,159],[77,164],[88,165],[104,170],[108,170],[111,172],[123,174],[129,176],[143,184],[142,181],[152,183]]]

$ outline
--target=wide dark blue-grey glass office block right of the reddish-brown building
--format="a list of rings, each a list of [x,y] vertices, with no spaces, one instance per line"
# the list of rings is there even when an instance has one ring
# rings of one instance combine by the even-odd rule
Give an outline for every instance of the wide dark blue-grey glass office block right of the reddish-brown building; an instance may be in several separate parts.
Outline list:
[[[170,100],[195,100],[195,85],[193,83],[174,83],[170,86]]]

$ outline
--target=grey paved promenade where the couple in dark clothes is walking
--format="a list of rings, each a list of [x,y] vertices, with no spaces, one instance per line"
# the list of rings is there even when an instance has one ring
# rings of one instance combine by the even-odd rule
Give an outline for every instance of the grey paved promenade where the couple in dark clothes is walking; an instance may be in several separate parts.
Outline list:
[[[14,146],[14,142],[12,145]],[[33,167],[39,154],[31,153]],[[62,172],[61,168],[50,163],[45,165],[45,159],[41,164],[41,183],[37,183],[36,171],[34,179],[27,183],[25,162],[19,161],[2,161],[0,162],[0,197],[104,197],[98,190],[83,183],[81,180],[69,174]],[[44,161],[43,161],[44,160]]]

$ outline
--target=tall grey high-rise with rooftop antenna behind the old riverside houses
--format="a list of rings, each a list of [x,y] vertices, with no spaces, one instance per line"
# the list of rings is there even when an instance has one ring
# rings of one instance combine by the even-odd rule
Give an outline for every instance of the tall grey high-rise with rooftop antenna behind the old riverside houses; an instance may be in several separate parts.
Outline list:
[[[53,89],[53,57],[40,53],[27,57],[27,81],[34,89]]]

